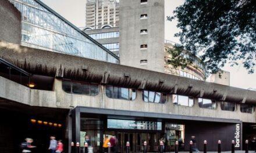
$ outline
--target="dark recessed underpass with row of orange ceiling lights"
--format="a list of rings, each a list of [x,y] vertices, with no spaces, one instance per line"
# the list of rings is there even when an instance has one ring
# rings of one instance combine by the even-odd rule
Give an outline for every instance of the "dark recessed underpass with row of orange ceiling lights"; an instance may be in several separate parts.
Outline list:
[[[66,150],[65,118],[69,110],[31,107],[0,99],[0,152],[22,152],[20,144],[26,138],[33,139],[33,152],[48,152],[49,137],[63,140]],[[11,105],[11,106],[10,106]]]

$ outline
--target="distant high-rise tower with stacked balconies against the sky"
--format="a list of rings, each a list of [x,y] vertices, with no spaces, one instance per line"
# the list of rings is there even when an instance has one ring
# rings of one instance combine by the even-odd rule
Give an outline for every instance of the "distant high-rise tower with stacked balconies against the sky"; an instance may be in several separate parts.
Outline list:
[[[119,27],[119,0],[86,0],[86,27]]]

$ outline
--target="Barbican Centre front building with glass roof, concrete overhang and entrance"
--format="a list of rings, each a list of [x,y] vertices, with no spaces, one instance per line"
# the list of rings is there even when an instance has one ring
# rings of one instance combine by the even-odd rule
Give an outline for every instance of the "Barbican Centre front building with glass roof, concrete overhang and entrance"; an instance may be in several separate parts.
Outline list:
[[[104,137],[116,150],[242,150],[256,137],[256,92],[119,64],[119,57],[38,0],[0,1],[0,152],[19,152],[26,137],[47,152],[49,137],[65,152],[94,152]],[[127,50],[128,51],[128,50]],[[71,142],[80,147],[71,147]]]

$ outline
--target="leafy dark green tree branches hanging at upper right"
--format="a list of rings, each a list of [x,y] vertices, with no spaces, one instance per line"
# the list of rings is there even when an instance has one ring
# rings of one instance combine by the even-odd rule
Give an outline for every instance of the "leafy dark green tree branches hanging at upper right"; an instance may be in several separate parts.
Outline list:
[[[227,61],[239,64],[249,74],[256,63],[256,5],[254,0],[186,0],[174,10],[177,27],[175,34],[185,50],[200,54],[205,68],[216,73]],[[180,49],[181,46],[176,46]],[[175,60],[177,58],[173,56]],[[184,66],[184,65],[183,65]]]

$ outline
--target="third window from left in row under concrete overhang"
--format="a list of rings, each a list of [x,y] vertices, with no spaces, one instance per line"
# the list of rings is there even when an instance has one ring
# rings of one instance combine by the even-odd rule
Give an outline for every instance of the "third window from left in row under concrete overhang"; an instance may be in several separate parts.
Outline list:
[[[163,104],[167,101],[167,94],[143,90],[143,101]]]

